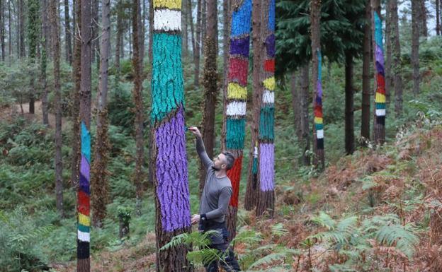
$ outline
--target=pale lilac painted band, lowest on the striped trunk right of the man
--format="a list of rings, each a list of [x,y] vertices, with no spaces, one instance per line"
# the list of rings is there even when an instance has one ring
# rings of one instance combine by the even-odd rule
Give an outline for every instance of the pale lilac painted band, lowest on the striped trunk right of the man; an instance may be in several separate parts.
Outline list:
[[[259,177],[261,191],[272,191],[275,177],[275,146],[273,143],[261,143],[259,145]]]

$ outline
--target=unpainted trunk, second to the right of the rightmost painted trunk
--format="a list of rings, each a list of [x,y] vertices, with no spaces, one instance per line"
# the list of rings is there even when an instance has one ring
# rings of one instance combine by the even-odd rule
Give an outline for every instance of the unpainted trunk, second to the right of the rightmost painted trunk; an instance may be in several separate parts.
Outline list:
[[[420,93],[419,83],[419,3],[412,1],[412,66],[413,66],[413,93]]]

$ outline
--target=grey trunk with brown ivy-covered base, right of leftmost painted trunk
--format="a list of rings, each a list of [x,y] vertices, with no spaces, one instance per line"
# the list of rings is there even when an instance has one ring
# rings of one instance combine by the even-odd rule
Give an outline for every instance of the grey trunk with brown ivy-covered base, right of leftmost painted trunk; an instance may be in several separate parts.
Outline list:
[[[95,227],[102,227],[106,218],[106,204],[108,203],[108,150],[111,147],[108,138],[108,66],[111,50],[111,1],[102,1],[101,10],[101,59],[100,79],[98,81],[97,113],[96,113],[96,141],[94,163],[92,165],[91,189],[92,222]]]

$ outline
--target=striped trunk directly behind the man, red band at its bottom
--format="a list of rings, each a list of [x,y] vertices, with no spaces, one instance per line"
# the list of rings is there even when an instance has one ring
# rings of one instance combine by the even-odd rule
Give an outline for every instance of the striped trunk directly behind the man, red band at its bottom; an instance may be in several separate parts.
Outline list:
[[[230,16],[230,42],[227,88],[224,90],[225,147],[235,157],[227,176],[232,182],[232,198],[227,214],[229,238],[236,232],[239,181],[242,170],[242,150],[246,129],[247,74],[249,71],[249,45],[251,25],[251,0],[232,1]]]

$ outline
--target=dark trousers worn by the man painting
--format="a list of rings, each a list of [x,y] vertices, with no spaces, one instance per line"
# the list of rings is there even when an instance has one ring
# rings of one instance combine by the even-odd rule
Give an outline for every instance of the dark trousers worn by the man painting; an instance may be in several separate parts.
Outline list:
[[[205,223],[201,223],[198,227],[201,231],[216,230],[217,234],[210,235],[211,249],[217,249],[222,256],[225,256],[222,260],[211,261],[209,264],[204,264],[205,271],[218,272],[218,263],[227,272],[241,271],[237,259],[234,256],[232,247],[229,246],[227,237],[227,228],[225,222],[217,223],[215,221],[206,220]]]

